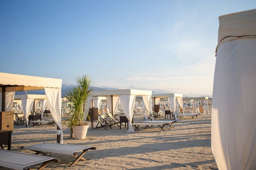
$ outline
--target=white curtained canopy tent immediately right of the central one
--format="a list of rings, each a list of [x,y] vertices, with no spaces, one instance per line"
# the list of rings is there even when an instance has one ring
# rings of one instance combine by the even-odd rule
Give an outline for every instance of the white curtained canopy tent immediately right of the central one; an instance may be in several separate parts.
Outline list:
[[[174,114],[174,118],[175,120],[178,120],[176,117],[176,100],[178,101],[178,104],[180,105],[180,107],[182,107],[183,110],[183,102],[182,102],[182,96],[183,94],[177,94],[177,93],[170,93],[170,94],[154,94],[152,95],[152,100],[153,100],[153,104],[159,104],[160,99],[161,98],[167,98],[169,103],[170,103],[170,107],[172,109],[172,112]]]

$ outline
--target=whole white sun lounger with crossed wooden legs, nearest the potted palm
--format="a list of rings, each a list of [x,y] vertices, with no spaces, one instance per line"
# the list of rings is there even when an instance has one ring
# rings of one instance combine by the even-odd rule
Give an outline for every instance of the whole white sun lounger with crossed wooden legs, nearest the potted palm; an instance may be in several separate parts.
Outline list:
[[[82,156],[89,149],[96,150],[96,147],[44,142],[44,143],[39,143],[31,146],[22,146],[21,149],[28,149],[28,150],[34,151],[36,152],[36,154],[58,153],[58,154],[70,155],[71,157],[76,158],[74,162],[71,163],[71,165],[69,166],[69,167],[72,167],[79,160],[87,160]],[[78,156],[78,152],[82,152],[82,153]]]

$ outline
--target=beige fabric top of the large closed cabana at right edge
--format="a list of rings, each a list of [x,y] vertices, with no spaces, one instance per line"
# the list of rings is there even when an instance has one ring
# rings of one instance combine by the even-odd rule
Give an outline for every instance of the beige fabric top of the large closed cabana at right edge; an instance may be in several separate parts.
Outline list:
[[[218,34],[217,49],[225,41],[255,37],[256,9],[219,16]]]

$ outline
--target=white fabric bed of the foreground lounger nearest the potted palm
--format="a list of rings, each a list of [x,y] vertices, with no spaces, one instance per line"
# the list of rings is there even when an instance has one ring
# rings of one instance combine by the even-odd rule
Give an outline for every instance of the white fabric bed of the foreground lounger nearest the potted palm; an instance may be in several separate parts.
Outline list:
[[[92,148],[91,146],[59,144],[59,143],[39,143],[31,146],[24,146],[23,149],[32,151],[41,151],[48,153],[59,153],[64,155],[73,155],[76,152],[82,152],[84,149]]]

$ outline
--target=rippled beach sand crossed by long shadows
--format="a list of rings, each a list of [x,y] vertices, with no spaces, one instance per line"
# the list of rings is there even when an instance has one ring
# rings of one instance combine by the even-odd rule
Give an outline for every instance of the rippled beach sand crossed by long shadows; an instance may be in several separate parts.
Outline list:
[[[142,116],[135,116],[134,120],[142,120]],[[60,163],[50,163],[45,169],[217,169],[210,140],[210,115],[183,118],[174,125],[174,129],[162,131],[155,126],[139,131],[126,132],[117,125],[112,129],[103,128],[91,130],[89,128],[84,140],[69,137],[69,129],[63,126],[64,143],[95,146],[95,151],[88,151],[84,157],[88,161],[80,161],[72,168],[67,166],[75,158],[68,155],[49,154],[50,157],[60,158]],[[56,125],[24,127],[15,126],[12,134],[12,151],[34,153],[20,149],[39,142],[56,141]],[[30,167],[37,169],[38,166]],[[6,168],[0,168],[3,170]]]

